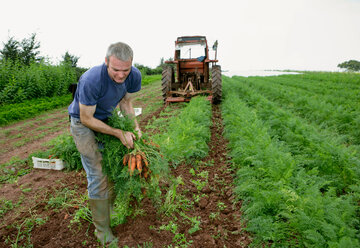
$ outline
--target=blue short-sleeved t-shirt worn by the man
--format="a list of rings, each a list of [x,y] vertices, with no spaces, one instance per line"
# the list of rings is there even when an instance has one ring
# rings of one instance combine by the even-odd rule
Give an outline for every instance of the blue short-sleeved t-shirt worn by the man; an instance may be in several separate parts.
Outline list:
[[[141,73],[132,66],[131,72],[123,83],[114,82],[107,72],[106,64],[95,66],[86,71],[79,80],[74,100],[68,107],[69,115],[80,118],[79,102],[94,106],[94,117],[105,120],[125,96],[141,89]]]

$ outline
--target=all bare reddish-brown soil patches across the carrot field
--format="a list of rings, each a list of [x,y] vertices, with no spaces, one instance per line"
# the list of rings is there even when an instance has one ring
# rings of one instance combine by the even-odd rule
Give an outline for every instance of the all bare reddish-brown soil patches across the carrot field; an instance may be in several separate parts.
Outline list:
[[[140,107],[145,108],[146,106]],[[140,126],[145,127],[148,121],[158,117],[162,110],[163,108],[159,108],[147,116],[141,116]],[[62,127],[61,130],[29,142],[19,149],[9,149],[8,144],[12,141],[2,143],[0,149],[5,152],[0,156],[0,164],[7,162],[15,154],[19,158],[25,159],[34,150],[45,149],[42,145],[44,142],[63,132],[68,132],[67,113],[65,111],[56,112],[58,111],[50,113],[54,118],[48,118],[47,123],[51,120],[63,120],[57,124]],[[41,130],[36,131],[36,127],[42,125],[41,122],[37,122],[35,119],[33,121],[32,127],[21,130],[24,135],[34,136],[41,132]],[[223,137],[221,112],[216,105],[213,106],[212,121],[209,155],[203,159],[204,163],[202,164],[204,165],[196,167],[197,173],[208,171],[208,184],[201,190],[202,197],[194,203],[194,208],[186,212],[189,217],[201,218],[200,229],[190,234],[188,231],[191,227],[190,224],[180,222],[178,232],[184,234],[186,240],[191,242],[188,243],[188,247],[247,247],[251,243],[251,239],[242,225],[241,201],[234,201],[232,184],[234,173],[228,157],[227,141]],[[21,124],[17,123],[6,128],[10,130]],[[206,166],[207,163],[211,163],[213,166]],[[191,183],[195,177],[189,172],[190,168],[195,168],[195,165],[181,164],[172,168],[171,171],[174,176],[181,176],[183,179],[184,184],[180,186],[179,194],[183,194],[193,201],[193,195],[198,190]],[[73,203],[79,202],[78,199],[87,194],[86,184],[84,171],[65,172],[38,169],[31,170],[30,173],[20,177],[16,183],[3,184],[0,188],[0,198],[11,201],[14,206],[3,215],[0,221],[0,247],[10,247],[15,241],[17,242],[16,247],[28,244],[32,244],[32,247],[35,248],[100,247],[94,238],[92,224],[85,220],[81,221],[81,226],[71,224],[73,213],[78,208],[76,204],[70,204],[69,207],[61,209],[49,208],[47,204],[53,200],[55,192],[67,192],[64,189],[72,192]],[[219,202],[222,203],[221,208]],[[1,208],[3,208],[4,204],[2,202],[1,204]],[[129,217],[125,224],[113,229],[119,239],[119,247],[176,247],[174,234],[170,231],[160,230],[162,225],[169,223],[169,218],[159,215],[157,209],[147,198],[142,201],[141,206],[144,215]],[[38,220],[46,221],[42,225],[29,225],[23,221],[31,216],[37,216]],[[26,236],[27,233],[28,236]]]

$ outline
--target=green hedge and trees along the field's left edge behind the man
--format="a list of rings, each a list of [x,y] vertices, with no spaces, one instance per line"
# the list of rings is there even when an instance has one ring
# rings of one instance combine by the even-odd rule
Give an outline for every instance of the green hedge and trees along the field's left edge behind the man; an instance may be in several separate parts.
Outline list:
[[[0,106],[21,103],[34,98],[61,96],[69,93],[88,70],[77,65],[79,57],[68,51],[59,64],[52,64],[40,54],[41,44],[36,34],[17,40],[9,37],[0,50]],[[155,69],[135,64],[143,77],[161,74],[164,59]]]

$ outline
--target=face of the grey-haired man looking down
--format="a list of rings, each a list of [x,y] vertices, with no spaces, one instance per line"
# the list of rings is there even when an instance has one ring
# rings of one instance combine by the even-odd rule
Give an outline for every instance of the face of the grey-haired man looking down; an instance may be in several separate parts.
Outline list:
[[[122,61],[110,56],[109,60],[105,58],[105,64],[110,78],[116,83],[123,83],[131,71],[132,61]]]

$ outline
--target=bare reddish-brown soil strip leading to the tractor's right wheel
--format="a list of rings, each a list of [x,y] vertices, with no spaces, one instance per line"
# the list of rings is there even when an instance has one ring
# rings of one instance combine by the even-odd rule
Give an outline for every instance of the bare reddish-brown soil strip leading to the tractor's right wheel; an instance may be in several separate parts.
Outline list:
[[[213,166],[202,165],[197,169],[196,174],[208,172],[208,185],[201,190],[205,196],[187,213],[190,217],[201,217],[201,230],[188,235],[187,239],[194,241],[191,247],[247,247],[251,240],[241,224],[241,202],[234,203],[235,172],[231,169],[230,158],[227,155],[228,142],[223,137],[221,111],[218,105],[212,107],[209,155],[202,161],[212,163]],[[192,176],[189,173],[190,168],[189,165],[182,165],[175,169],[175,174],[183,177],[183,190],[188,191],[186,196],[189,199],[193,199],[193,195],[199,192],[191,180],[199,177]],[[218,216],[210,218],[210,215],[215,213],[218,213]]]

